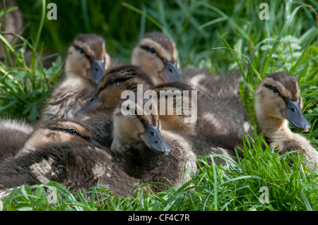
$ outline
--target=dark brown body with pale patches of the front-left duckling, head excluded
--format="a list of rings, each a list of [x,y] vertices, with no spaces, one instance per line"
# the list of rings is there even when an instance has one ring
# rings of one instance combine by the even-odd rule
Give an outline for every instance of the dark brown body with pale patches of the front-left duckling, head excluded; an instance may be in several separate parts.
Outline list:
[[[112,157],[104,149],[83,142],[50,143],[37,147],[28,154],[1,163],[0,170],[2,189],[55,181],[75,190],[104,185],[117,195],[131,195],[139,183],[112,162]]]

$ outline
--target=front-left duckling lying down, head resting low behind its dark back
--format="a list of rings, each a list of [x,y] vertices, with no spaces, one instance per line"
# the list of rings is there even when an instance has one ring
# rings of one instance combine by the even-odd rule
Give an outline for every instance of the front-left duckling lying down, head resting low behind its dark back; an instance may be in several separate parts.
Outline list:
[[[86,126],[75,121],[41,124],[16,157],[0,164],[0,188],[49,181],[81,190],[100,184],[117,195],[131,195],[139,183],[114,163],[110,150],[96,142]]]

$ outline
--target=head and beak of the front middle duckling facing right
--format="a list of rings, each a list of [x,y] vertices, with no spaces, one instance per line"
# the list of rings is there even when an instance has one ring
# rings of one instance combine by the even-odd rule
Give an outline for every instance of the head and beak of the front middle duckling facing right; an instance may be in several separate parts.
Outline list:
[[[152,101],[155,107],[156,103],[152,99],[148,101]],[[139,144],[144,144],[155,152],[171,152],[170,146],[161,136],[158,115],[145,106],[127,99],[114,110],[112,151],[125,152],[132,145],[138,149]]]

